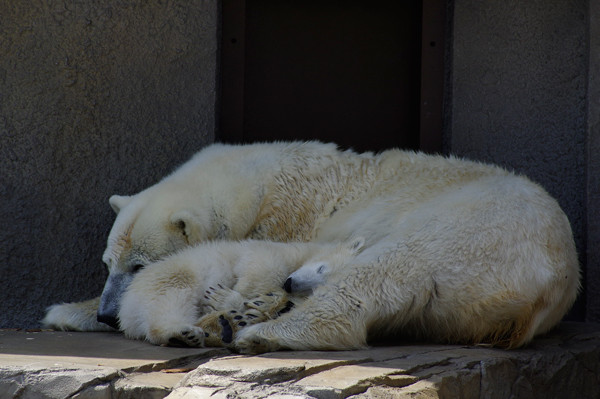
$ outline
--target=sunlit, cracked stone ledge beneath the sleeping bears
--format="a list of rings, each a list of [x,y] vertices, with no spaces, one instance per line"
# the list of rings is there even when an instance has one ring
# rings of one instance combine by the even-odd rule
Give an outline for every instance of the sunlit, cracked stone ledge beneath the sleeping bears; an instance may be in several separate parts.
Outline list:
[[[0,330],[0,397],[591,398],[600,325],[563,323],[527,348],[453,345],[233,355],[116,333]]]

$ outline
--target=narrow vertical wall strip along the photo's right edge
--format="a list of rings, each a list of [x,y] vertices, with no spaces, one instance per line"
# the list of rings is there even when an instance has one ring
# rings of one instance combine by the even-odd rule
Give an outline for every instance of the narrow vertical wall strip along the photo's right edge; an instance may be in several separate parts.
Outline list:
[[[600,0],[589,4],[586,316],[600,321]]]

